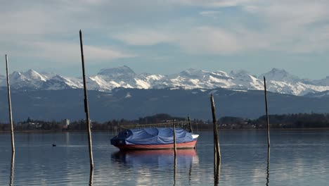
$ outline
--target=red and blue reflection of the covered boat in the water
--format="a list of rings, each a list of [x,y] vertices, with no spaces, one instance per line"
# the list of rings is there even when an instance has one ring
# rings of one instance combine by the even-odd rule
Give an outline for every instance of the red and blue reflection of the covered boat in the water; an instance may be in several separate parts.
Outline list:
[[[172,149],[117,151],[112,154],[112,159],[128,166],[161,166],[162,168],[172,168],[174,151]],[[179,167],[190,167],[192,164],[198,164],[199,159],[195,149],[177,149],[176,161]]]

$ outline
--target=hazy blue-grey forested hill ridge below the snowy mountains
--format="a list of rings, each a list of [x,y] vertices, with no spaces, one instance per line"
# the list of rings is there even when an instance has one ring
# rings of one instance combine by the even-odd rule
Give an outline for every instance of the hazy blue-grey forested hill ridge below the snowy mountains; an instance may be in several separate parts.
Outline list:
[[[209,94],[214,93],[218,117],[257,118],[264,115],[264,92],[230,89],[113,89],[89,91],[91,120],[134,119],[155,113],[210,119]],[[329,97],[268,94],[269,113],[328,113]],[[82,89],[12,92],[13,119],[42,120],[84,118]],[[8,120],[6,90],[0,90],[0,121]]]

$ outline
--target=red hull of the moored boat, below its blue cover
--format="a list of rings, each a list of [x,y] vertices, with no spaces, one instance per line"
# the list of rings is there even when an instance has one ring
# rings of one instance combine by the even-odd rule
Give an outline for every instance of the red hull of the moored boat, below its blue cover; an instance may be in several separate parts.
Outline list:
[[[176,144],[176,149],[195,149],[197,140]],[[117,144],[115,147],[120,150],[155,150],[174,149],[174,144]]]

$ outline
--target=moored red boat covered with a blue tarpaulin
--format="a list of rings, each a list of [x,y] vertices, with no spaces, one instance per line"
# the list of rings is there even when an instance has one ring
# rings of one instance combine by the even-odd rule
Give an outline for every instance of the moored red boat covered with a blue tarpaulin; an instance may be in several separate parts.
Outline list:
[[[195,149],[199,135],[176,128],[176,149]],[[120,150],[154,150],[174,148],[174,128],[135,128],[122,130],[111,139]]]

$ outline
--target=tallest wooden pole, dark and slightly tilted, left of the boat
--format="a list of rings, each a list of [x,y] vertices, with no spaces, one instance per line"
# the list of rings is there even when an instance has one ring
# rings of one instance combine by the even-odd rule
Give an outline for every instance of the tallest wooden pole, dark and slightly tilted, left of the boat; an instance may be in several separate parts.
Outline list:
[[[93,147],[91,144],[91,129],[90,129],[90,119],[89,119],[89,106],[88,106],[88,95],[86,91],[86,73],[84,70],[84,47],[82,44],[82,32],[80,30],[80,48],[81,48],[81,61],[82,61],[82,75],[84,78],[84,112],[86,113],[86,123],[88,130],[88,141],[89,141],[89,158],[90,158],[90,168],[93,169]]]

